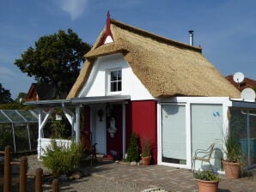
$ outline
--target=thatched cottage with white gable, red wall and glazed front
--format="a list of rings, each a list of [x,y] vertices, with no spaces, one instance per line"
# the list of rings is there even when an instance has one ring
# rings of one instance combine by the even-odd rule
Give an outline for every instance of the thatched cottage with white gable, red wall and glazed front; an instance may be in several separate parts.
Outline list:
[[[65,106],[76,107],[76,118],[71,119],[76,122],[76,141],[82,115],[84,130],[92,133],[98,153],[125,157],[131,132],[136,132],[140,145],[151,141],[151,163],[191,169],[195,150],[214,142],[211,161],[221,171],[222,141],[232,129],[230,122],[241,109],[256,108],[255,103],[233,100],[240,98],[240,92],[202,55],[201,48],[109,16],[85,57],[67,99],[27,104],[62,105],[64,111]],[[196,169],[203,166],[197,164]]]

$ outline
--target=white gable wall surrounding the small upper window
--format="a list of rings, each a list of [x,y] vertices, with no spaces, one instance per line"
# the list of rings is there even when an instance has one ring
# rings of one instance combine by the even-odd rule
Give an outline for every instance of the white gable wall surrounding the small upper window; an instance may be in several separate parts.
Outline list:
[[[120,95],[130,95],[131,100],[154,99],[133,73],[122,54],[99,57],[78,97],[106,96],[108,94],[107,71],[109,69],[122,69],[122,92],[119,93]]]

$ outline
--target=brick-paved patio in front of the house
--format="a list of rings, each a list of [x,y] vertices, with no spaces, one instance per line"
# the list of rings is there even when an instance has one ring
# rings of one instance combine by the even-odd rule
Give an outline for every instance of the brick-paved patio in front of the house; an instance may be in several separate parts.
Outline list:
[[[192,171],[163,165],[144,166],[102,162],[92,168],[91,174],[94,177],[137,183],[171,192],[198,191],[197,183],[192,177]],[[222,177],[218,191],[254,192],[256,191],[256,177],[240,179]]]

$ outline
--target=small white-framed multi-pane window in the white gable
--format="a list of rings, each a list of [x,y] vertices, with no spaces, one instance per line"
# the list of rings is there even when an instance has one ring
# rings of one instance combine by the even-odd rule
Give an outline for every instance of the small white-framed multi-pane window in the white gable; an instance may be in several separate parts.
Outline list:
[[[113,69],[109,71],[108,85],[109,93],[117,93],[122,91],[122,70]]]

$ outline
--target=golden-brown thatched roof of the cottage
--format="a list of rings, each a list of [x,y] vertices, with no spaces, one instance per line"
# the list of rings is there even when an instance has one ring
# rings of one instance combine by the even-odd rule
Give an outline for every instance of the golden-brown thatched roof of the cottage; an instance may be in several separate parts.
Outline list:
[[[121,52],[132,71],[153,97],[228,96],[240,98],[239,91],[207,61],[198,47],[182,44],[111,19],[113,43],[102,45],[106,28],[71,88],[68,98],[76,97],[96,57]]]

